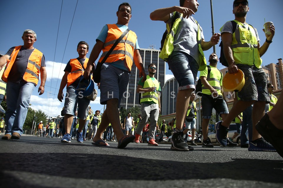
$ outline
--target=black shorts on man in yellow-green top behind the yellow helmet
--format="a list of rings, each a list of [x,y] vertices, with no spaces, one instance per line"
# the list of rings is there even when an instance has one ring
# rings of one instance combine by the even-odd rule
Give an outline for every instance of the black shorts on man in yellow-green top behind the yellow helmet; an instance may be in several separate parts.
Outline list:
[[[221,95],[217,98],[213,98],[211,95],[203,94],[201,98],[201,105],[203,106],[204,119],[210,119],[213,108],[220,115],[229,113],[227,104]]]

